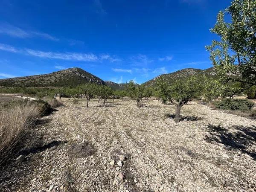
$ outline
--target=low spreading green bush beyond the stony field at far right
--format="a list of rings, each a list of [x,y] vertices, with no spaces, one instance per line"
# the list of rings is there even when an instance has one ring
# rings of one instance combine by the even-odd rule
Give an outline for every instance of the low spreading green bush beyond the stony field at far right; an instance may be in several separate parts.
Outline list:
[[[217,109],[222,110],[241,110],[248,111],[251,110],[254,103],[248,99],[223,99],[218,102],[214,102]]]

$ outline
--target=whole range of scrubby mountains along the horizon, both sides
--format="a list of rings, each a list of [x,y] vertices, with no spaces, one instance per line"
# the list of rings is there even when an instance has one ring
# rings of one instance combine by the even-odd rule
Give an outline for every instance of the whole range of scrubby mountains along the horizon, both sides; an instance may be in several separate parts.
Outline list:
[[[173,73],[162,74],[154,77],[151,80],[144,82],[146,86],[154,86],[156,80],[163,77],[168,82],[172,82],[175,79],[186,78],[192,75],[205,75],[205,76],[216,76],[216,72],[213,67],[201,70],[195,68],[185,68],[182,70],[175,71]],[[69,68],[65,70],[59,70],[52,73],[46,73],[34,76],[14,77],[7,79],[0,79],[0,86],[6,87],[68,87],[76,86],[78,84],[84,84],[92,82],[96,84],[104,84],[112,87],[114,90],[125,89],[126,83],[115,83],[113,81],[103,81],[97,76],[79,68]]]

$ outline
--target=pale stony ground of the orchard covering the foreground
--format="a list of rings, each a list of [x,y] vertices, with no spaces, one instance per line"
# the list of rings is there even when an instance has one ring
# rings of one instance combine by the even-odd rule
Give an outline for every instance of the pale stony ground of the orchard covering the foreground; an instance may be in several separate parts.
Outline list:
[[[0,191],[255,191],[256,121],[190,102],[85,100],[42,117]]]

